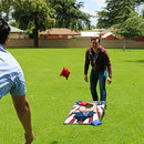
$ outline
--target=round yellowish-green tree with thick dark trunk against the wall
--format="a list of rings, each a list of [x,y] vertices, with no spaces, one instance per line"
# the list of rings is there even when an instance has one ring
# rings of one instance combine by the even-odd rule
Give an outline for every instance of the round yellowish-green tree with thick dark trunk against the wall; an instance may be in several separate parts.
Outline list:
[[[13,18],[19,22],[20,29],[25,30],[28,25],[33,25],[34,47],[38,48],[38,31],[53,24],[53,10],[43,0],[14,0],[13,8]]]

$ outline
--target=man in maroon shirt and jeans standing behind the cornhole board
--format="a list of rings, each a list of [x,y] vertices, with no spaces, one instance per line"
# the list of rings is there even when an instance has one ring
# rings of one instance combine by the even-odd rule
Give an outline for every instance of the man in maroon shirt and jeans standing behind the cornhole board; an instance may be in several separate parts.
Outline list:
[[[85,53],[85,64],[84,64],[84,80],[88,80],[88,70],[91,62],[92,70],[90,74],[90,90],[93,101],[99,101],[96,85],[99,80],[101,99],[100,101],[106,102],[106,89],[105,81],[109,71],[107,83],[112,82],[112,68],[109,54],[106,50],[100,45],[100,38],[91,38],[91,47],[88,48]]]

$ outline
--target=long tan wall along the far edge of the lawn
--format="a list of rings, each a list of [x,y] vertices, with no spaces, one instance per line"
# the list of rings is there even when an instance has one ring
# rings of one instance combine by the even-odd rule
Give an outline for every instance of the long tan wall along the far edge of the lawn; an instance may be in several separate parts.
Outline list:
[[[33,39],[10,39],[8,47],[11,48],[33,48]],[[88,48],[90,39],[40,39],[40,48]],[[104,48],[123,48],[123,40],[102,40]],[[126,40],[126,48],[144,49],[144,41]]]

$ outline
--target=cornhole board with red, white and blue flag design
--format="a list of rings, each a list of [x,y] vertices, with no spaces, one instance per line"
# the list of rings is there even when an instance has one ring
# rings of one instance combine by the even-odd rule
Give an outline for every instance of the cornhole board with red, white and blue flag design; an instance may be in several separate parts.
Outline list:
[[[80,105],[83,101],[76,101],[72,106],[63,124],[91,124],[101,121],[105,110],[103,101],[88,101],[88,105]],[[84,101],[85,102],[85,101]]]

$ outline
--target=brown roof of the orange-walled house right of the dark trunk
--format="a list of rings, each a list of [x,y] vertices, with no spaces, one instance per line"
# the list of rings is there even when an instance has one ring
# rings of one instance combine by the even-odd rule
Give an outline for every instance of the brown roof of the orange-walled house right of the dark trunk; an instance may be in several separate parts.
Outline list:
[[[47,35],[47,34],[70,34],[70,35],[80,35],[80,32],[76,31],[72,31],[70,29],[66,28],[52,28],[52,29],[48,29],[45,31],[40,32],[40,34]]]

